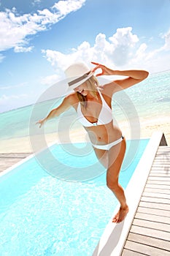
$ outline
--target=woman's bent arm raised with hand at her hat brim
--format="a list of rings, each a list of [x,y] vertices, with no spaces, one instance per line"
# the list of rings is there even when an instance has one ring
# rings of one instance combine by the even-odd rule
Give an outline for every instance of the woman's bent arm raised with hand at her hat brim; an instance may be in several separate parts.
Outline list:
[[[96,67],[92,70],[92,72],[95,72],[96,69],[101,69],[101,73],[97,74],[96,76],[100,75],[123,75],[127,76],[128,78],[120,79],[120,80],[114,80],[113,82],[117,83],[119,86],[114,86],[112,89],[112,93],[116,91],[120,91],[123,89],[127,89],[130,86],[134,86],[136,83],[141,82],[147,76],[149,75],[149,72],[145,70],[113,70],[109,69],[108,67],[105,67],[104,65],[98,64],[96,62],[91,62],[92,64],[95,64]],[[113,83],[114,84],[114,83]]]

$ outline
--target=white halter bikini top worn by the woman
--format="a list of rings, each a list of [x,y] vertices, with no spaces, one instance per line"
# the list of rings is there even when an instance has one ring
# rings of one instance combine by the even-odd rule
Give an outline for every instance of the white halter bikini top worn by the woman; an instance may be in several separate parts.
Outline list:
[[[112,109],[109,108],[109,105],[107,105],[107,102],[104,100],[104,97],[101,94],[101,91],[98,90],[98,93],[101,97],[101,112],[98,116],[98,121],[91,123],[88,121],[87,118],[82,114],[81,105],[80,102],[77,106],[77,116],[80,123],[83,125],[83,127],[93,127],[96,125],[103,125],[103,124],[109,124],[112,121]]]

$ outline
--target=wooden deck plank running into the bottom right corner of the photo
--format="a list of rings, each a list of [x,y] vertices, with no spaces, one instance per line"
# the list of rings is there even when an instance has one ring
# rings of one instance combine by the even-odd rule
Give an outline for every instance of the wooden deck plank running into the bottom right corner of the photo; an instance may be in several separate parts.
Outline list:
[[[143,253],[144,255],[152,255],[152,256],[169,256],[169,252],[158,249],[152,246],[148,246],[146,244],[139,244],[133,241],[126,241],[125,249],[131,249],[134,252]],[[130,255],[129,255],[130,256]]]

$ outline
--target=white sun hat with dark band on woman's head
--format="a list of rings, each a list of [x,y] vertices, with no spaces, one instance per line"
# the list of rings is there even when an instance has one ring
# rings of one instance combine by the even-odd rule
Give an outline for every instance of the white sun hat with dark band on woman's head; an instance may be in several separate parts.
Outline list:
[[[71,91],[77,86],[80,86],[80,84],[84,83],[93,75],[93,72],[91,72],[90,68],[84,62],[72,64],[64,73],[69,86],[67,91]]]

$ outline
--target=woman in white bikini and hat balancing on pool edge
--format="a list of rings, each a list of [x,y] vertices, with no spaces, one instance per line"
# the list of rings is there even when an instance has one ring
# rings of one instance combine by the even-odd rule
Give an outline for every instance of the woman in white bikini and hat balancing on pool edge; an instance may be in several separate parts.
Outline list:
[[[61,113],[73,107],[77,111],[80,122],[85,127],[93,145],[93,149],[104,167],[107,167],[107,187],[120,202],[120,209],[112,222],[121,222],[128,214],[128,205],[125,200],[123,187],[118,183],[120,167],[125,156],[125,138],[119,127],[112,121],[112,95],[115,92],[127,89],[147,78],[144,70],[112,70],[104,65],[91,62],[96,67],[90,70],[84,63],[72,64],[65,71],[69,90],[74,92],[63,99],[61,105],[50,111],[49,115],[38,121],[39,127],[50,118],[60,116]],[[123,75],[127,78],[113,80],[104,86],[98,85],[93,75],[101,69],[101,75]]]

